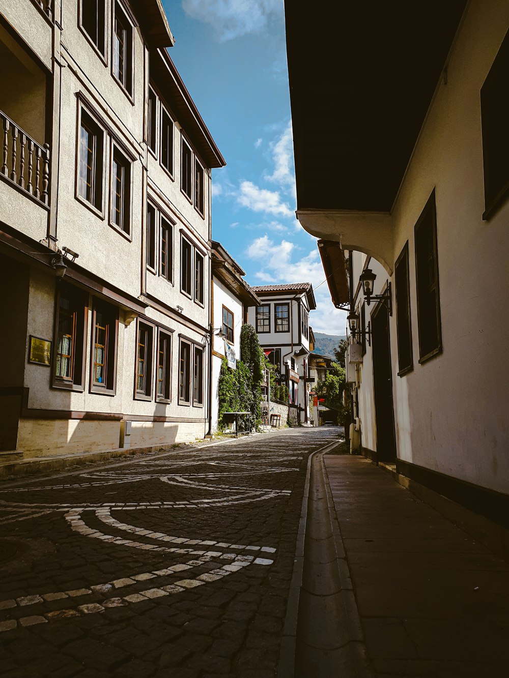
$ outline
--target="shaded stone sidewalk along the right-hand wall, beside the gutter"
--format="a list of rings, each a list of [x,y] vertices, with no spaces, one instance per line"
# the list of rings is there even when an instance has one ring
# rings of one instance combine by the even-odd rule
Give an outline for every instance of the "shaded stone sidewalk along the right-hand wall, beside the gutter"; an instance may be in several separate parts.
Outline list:
[[[324,462],[375,675],[506,678],[509,563],[369,460]]]

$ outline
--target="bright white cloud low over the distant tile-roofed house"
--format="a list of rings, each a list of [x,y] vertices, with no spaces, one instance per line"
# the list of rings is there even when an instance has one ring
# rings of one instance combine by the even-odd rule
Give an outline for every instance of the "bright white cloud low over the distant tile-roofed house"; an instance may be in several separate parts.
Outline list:
[[[267,235],[252,241],[247,255],[263,262],[255,278],[262,283],[312,283],[316,297],[316,311],[309,316],[309,323],[316,332],[345,334],[346,313],[339,311],[331,302],[331,293],[324,282],[325,273],[318,250],[311,250],[301,258],[293,258],[296,248],[293,243],[282,240],[276,243]]]

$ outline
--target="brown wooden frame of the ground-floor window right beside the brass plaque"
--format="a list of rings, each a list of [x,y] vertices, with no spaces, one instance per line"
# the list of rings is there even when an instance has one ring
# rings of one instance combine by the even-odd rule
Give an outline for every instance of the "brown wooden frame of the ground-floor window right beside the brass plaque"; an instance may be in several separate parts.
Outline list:
[[[65,378],[56,374],[58,362],[58,337],[60,330],[60,299],[66,296],[74,304],[73,311],[73,346],[71,360],[71,376]],[[65,391],[77,391],[83,393],[85,390],[85,372],[86,372],[86,351],[87,351],[87,333],[88,333],[88,294],[68,283],[58,281],[55,294],[55,313],[53,327],[53,365],[52,365],[52,388],[61,388]]]

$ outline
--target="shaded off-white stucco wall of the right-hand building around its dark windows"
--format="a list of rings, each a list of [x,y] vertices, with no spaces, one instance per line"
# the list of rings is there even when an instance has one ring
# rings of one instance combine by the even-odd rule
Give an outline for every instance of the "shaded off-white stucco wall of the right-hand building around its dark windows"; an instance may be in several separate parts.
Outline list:
[[[509,200],[483,221],[479,92],[508,27],[508,3],[468,6],[447,84],[438,87],[394,206],[394,260],[409,241],[414,368],[402,377],[396,376],[395,313],[390,319],[398,456],[501,492],[509,492],[509,323],[500,306],[509,292]],[[414,226],[434,188],[443,352],[419,365]],[[377,285],[386,279],[380,271]],[[366,360],[369,352],[359,394],[362,441],[371,447]]]

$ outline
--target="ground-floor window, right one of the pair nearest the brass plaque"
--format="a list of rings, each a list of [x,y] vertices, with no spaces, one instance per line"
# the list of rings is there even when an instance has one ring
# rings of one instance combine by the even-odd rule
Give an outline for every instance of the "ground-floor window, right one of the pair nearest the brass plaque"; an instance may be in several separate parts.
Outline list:
[[[92,360],[90,391],[115,393],[117,371],[118,310],[94,302],[92,313]]]

